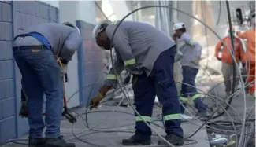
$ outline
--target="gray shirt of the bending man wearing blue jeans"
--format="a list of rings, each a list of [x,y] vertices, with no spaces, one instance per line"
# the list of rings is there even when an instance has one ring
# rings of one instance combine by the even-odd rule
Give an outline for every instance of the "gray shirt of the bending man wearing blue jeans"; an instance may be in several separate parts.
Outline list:
[[[75,28],[63,24],[38,24],[25,29],[20,35],[31,32],[43,35],[50,42],[54,55],[60,57],[61,60],[71,61],[82,42],[82,38]]]

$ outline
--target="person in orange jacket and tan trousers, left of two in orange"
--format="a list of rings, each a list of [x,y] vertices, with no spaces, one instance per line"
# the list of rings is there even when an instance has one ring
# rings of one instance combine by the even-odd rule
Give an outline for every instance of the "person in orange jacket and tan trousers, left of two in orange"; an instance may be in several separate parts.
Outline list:
[[[229,31],[228,31],[229,34]],[[235,57],[236,57],[236,63],[239,63],[239,61],[242,61],[243,67],[245,66],[245,58],[244,58],[244,51],[242,42],[238,38],[235,37],[235,30],[232,29],[232,35],[234,37],[234,51],[235,51]],[[231,44],[231,37],[230,35],[224,37],[222,41],[227,45],[224,46],[221,41],[217,43],[217,46],[215,48],[215,57],[217,57],[217,60],[222,62],[221,71],[224,77],[224,86],[225,86],[225,92],[227,96],[230,96],[231,90],[232,90],[232,77],[233,77],[233,60],[232,60],[232,44]],[[228,51],[229,50],[229,51]],[[236,71],[239,69],[236,69]],[[236,74],[237,77],[237,74]],[[236,79],[235,84],[235,90],[239,89],[239,79]]]

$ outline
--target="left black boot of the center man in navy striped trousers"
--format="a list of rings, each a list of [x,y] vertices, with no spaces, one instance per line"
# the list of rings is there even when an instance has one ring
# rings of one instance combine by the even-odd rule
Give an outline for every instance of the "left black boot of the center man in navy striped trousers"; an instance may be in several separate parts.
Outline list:
[[[145,139],[142,135],[135,134],[129,139],[124,139],[122,145],[150,145],[151,138]]]

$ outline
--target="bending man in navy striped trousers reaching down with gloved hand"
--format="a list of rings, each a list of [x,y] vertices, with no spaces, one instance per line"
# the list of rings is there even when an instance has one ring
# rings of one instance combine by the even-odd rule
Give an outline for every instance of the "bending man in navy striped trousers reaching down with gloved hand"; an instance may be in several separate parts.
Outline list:
[[[95,27],[93,35],[98,46],[110,50],[113,31],[117,23],[118,21],[112,23],[103,21]],[[133,75],[135,108],[142,119],[150,123],[154,99],[157,95],[163,105],[166,140],[174,145],[183,144],[183,130],[180,127],[180,101],[173,81],[175,43],[150,24],[124,21],[114,35],[113,47],[117,52],[117,60],[114,63],[117,74],[126,68]],[[98,95],[91,99],[91,108],[95,108],[112,87],[117,87],[113,68],[98,91]],[[150,145],[152,133],[142,119],[135,114],[135,135],[124,139],[123,145]],[[168,144],[158,141],[158,145]]]

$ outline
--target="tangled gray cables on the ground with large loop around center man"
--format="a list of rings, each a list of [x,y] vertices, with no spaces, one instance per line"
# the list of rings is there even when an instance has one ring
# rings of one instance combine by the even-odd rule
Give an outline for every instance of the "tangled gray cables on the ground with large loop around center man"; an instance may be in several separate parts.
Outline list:
[[[206,26],[206,28],[208,28],[210,31],[212,31],[213,34],[216,35],[217,38],[221,40],[221,37],[220,37],[219,35],[217,35],[217,33],[216,33],[215,31],[213,31],[213,29],[210,28],[207,24],[205,24],[204,22],[202,22],[202,20],[199,20],[198,18],[192,16],[191,14],[185,13],[184,11],[182,11],[182,10],[180,10],[180,9],[172,8],[172,7],[169,7],[169,6],[145,6],[145,7],[141,7],[141,8],[139,8],[139,9],[133,10],[131,13],[128,13],[128,14],[117,24],[117,28],[116,28],[115,31],[113,32],[113,36],[115,35],[115,32],[117,31],[117,29],[118,29],[118,27],[121,25],[121,23],[122,23],[128,16],[130,16],[132,13],[135,13],[135,12],[141,10],[141,9],[147,9],[147,8],[152,8],[152,7],[161,7],[161,8],[167,8],[167,9],[173,9],[173,10],[176,10],[176,11],[178,11],[178,12],[180,12],[180,13],[184,13],[184,14],[186,14],[187,16],[192,17],[192,18],[194,18],[195,20],[198,20],[198,22],[200,22],[200,23],[202,23],[204,26]],[[113,41],[113,36],[112,36],[112,39],[111,39],[112,41]],[[221,42],[222,42],[222,41],[221,41]],[[223,45],[228,48],[228,46],[226,46],[225,43],[223,43]],[[253,112],[254,108],[252,108],[252,110],[250,111],[249,115],[247,116],[247,109],[246,109],[246,108],[247,108],[247,102],[246,102],[246,95],[245,95],[245,91],[244,91],[245,87],[248,86],[250,83],[247,83],[247,85],[244,85],[244,84],[243,84],[243,78],[242,78],[243,76],[242,76],[239,72],[236,71],[236,69],[239,69],[239,65],[236,63],[236,59],[235,59],[233,53],[232,53],[230,50],[228,50],[228,51],[229,51],[229,53],[232,55],[232,60],[233,60],[234,63],[235,63],[235,64],[234,64],[234,69],[235,69],[235,70],[233,70],[233,72],[234,72],[234,74],[237,75],[237,76],[234,76],[234,77],[236,77],[236,78],[234,78],[233,81],[236,81],[236,79],[239,79],[239,81],[240,81],[242,87],[241,87],[240,90],[237,90],[236,92],[235,92],[235,89],[233,88],[233,89],[232,89],[232,95],[231,95],[230,97],[225,98],[225,99],[222,99],[222,98],[220,98],[220,97],[216,97],[216,96],[214,96],[214,95],[212,95],[212,94],[206,94],[206,93],[204,93],[202,90],[199,90],[199,89],[198,89],[199,94],[203,94],[203,95],[205,95],[206,97],[212,98],[213,101],[216,101],[217,105],[219,105],[219,106],[223,109],[223,112],[218,113],[218,114],[216,115],[216,113],[217,113],[217,111],[218,111],[218,109],[216,109],[216,110],[214,110],[214,111],[212,112],[212,115],[211,115],[208,119],[206,119],[206,120],[196,119],[197,121],[202,122],[202,125],[198,125],[197,123],[195,123],[195,122],[193,122],[193,121],[190,121],[190,123],[194,123],[195,125],[198,125],[198,129],[195,130],[195,132],[193,132],[193,133],[192,133],[191,135],[189,135],[187,138],[184,138],[185,141],[190,141],[190,143],[187,143],[187,144],[185,144],[185,145],[189,145],[189,144],[194,144],[194,143],[196,143],[197,141],[191,140],[190,138],[193,137],[195,134],[197,134],[198,131],[201,130],[203,127],[207,127],[209,130],[213,130],[213,131],[215,131],[215,132],[228,132],[228,133],[236,134],[236,147],[246,147],[246,146],[248,145],[248,142],[250,141],[250,138],[254,138],[254,125],[253,125],[252,123],[254,123],[255,119],[250,119],[250,118],[249,118],[250,115],[251,115],[251,113]],[[113,63],[113,54],[112,54],[113,52],[112,52],[112,50],[110,51],[110,53],[111,53],[111,54],[110,54],[111,61],[112,61],[112,63]],[[114,70],[114,72],[115,72],[116,78],[118,78],[114,66],[113,66],[113,70]],[[237,72],[237,74],[236,74],[236,72]],[[97,81],[97,79],[95,79],[95,82],[96,82],[96,81]],[[124,84],[121,83],[120,80],[117,80],[117,82],[118,82],[118,85],[119,85],[119,89],[120,89],[120,90],[122,91],[122,93],[124,94],[124,97],[125,97],[126,100],[128,101],[129,105],[132,107],[132,109],[135,111],[135,113],[143,120],[143,118],[139,115],[139,112],[137,112],[136,109],[134,108],[134,106],[133,106],[133,104],[132,104],[132,101],[131,101],[130,97],[128,96],[128,93],[127,93],[127,91],[126,91],[126,88],[125,88]],[[179,81],[176,81],[176,83],[180,83],[180,82],[179,82]],[[185,84],[185,85],[187,85],[187,86],[191,86],[191,85],[189,85],[189,84],[187,84],[187,83],[183,83],[183,84]],[[221,84],[221,83],[220,83],[220,84]],[[220,85],[220,84],[218,84],[218,85]],[[233,82],[233,87],[235,87],[234,84],[235,84],[235,82]],[[217,85],[217,86],[218,86],[218,85]],[[215,87],[216,87],[216,86],[214,86],[214,87],[212,88],[212,90],[215,90]],[[86,87],[83,87],[83,88],[86,88]],[[93,89],[93,87],[91,88],[91,91],[92,91],[92,89]],[[91,97],[91,91],[90,91],[89,97]],[[210,90],[210,91],[211,91],[211,90]],[[216,92],[216,91],[215,91],[215,92]],[[77,93],[77,92],[76,92],[76,93]],[[236,94],[239,94],[239,93],[242,94],[242,97],[243,97],[243,108],[244,108],[244,109],[243,109],[243,117],[237,115],[237,116],[239,117],[239,121],[234,121],[234,120],[232,120],[232,116],[229,115],[229,113],[227,112],[227,110],[228,110],[228,108],[231,108],[232,111],[234,112],[234,114],[237,114],[236,108],[233,108],[232,105],[231,105],[231,103],[232,103],[232,97],[234,97]],[[73,95],[75,95],[75,94],[72,94],[72,96],[73,96]],[[70,99],[70,98],[71,98],[71,97],[69,97],[69,99]],[[90,98],[88,98],[88,101],[89,101],[89,99],[90,99]],[[226,102],[226,100],[228,100],[228,102]],[[220,101],[221,101],[221,102],[220,102]],[[106,101],[105,101],[105,102],[103,101],[102,104],[107,104],[108,102],[109,102],[109,101],[107,101],[107,99],[106,99]],[[88,103],[87,103],[87,104],[88,104]],[[129,113],[129,112],[117,111],[117,110],[111,110],[111,111],[108,111],[108,110],[103,110],[103,111],[102,111],[102,110],[97,110],[97,111],[88,112],[88,108],[89,108],[89,107],[90,107],[90,106],[88,106],[88,107],[86,108],[86,112],[84,112],[83,114],[78,114],[77,112],[74,111],[77,116],[80,116],[81,118],[83,118],[83,119],[85,120],[84,126],[87,127],[87,130],[84,130],[83,132],[80,132],[79,134],[75,134],[74,131],[73,131],[73,128],[74,128],[74,124],[73,124],[73,126],[72,126],[72,135],[74,136],[74,138],[71,138],[71,139],[69,139],[69,140],[72,140],[72,139],[75,139],[75,138],[76,138],[76,139],[78,139],[78,140],[80,140],[80,141],[83,141],[84,143],[89,144],[89,145],[95,145],[95,146],[101,146],[101,147],[103,147],[104,145],[96,145],[96,144],[93,144],[93,143],[91,143],[91,142],[84,141],[84,140],[82,140],[82,139],[80,139],[80,138],[83,137],[83,136],[85,136],[85,135],[97,134],[97,133],[100,133],[100,132],[103,132],[103,133],[111,133],[111,132],[133,133],[133,132],[131,132],[131,131],[125,131],[125,130],[97,130],[97,129],[95,129],[95,127],[98,127],[100,124],[104,123],[104,122],[106,121],[107,117],[106,117],[106,119],[103,119],[103,120],[102,120],[101,122],[99,122],[98,124],[96,124],[96,125],[94,125],[94,126],[91,126],[91,125],[88,123],[88,117],[87,117],[87,115],[90,114],[90,113],[96,113],[96,112],[119,112],[119,113],[123,113],[123,114],[126,114],[126,115],[132,115],[132,116],[133,116],[134,114]],[[157,106],[156,106],[156,107],[157,107]],[[254,107],[255,107],[255,106],[254,106]],[[158,108],[158,107],[157,107],[157,108]],[[191,116],[194,116],[187,108],[185,108],[185,109],[187,110],[187,112],[189,112],[189,113],[191,114]],[[214,120],[214,119],[217,119],[218,117],[222,116],[224,113],[227,114],[228,119],[230,119],[230,121]],[[85,118],[83,117],[83,115],[85,115],[85,116],[84,116]],[[160,118],[159,118],[159,117],[156,118],[156,119],[151,123],[152,125],[161,127],[161,126],[159,126],[157,123],[155,123],[156,121],[161,121],[161,117],[160,117]],[[171,144],[169,141],[165,140],[165,138],[163,138],[163,137],[161,136],[161,134],[159,134],[158,131],[154,129],[154,127],[151,127],[145,120],[143,120],[143,122],[146,123],[147,126],[151,128],[151,130],[154,131],[154,135],[157,135],[159,138],[161,138],[161,139],[163,139],[164,141],[166,141],[170,146],[173,146],[173,147],[174,147],[174,145]],[[250,122],[251,124],[248,125],[248,124],[247,124],[248,122]],[[219,129],[219,128],[217,128],[217,126],[218,126],[218,127],[220,127],[220,126],[221,126],[221,127],[224,127],[224,129]],[[248,128],[249,126],[250,126],[250,129]],[[124,127],[124,126],[122,126],[122,127]],[[164,129],[164,127],[161,127],[161,128]],[[239,130],[239,128],[240,128],[240,130]],[[114,128],[113,128],[113,129],[114,129]],[[93,130],[94,132],[90,132],[91,130]],[[69,136],[70,136],[70,135],[69,135]],[[65,137],[68,137],[68,136],[65,136]],[[27,139],[23,139],[23,140],[20,140],[20,139],[19,139],[19,140],[14,140],[14,139],[12,139],[12,140],[9,140],[9,141],[10,141],[10,142],[13,142],[13,143],[24,144],[24,143],[22,143],[21,141],[27,141]]]

